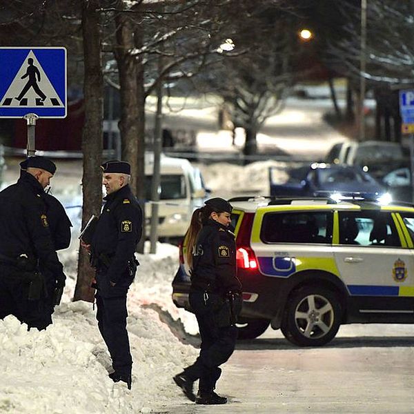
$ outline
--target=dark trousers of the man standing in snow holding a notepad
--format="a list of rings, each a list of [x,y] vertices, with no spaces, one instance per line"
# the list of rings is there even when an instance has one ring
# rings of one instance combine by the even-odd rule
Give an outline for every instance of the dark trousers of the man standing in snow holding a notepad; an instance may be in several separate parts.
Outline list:
[[[108,347],[112,367],[121,375],[130,375],[132,355],[126,330],[126,295],[132,278],[110,286],[105,273],[97,273],[97,321],[99,332]]]

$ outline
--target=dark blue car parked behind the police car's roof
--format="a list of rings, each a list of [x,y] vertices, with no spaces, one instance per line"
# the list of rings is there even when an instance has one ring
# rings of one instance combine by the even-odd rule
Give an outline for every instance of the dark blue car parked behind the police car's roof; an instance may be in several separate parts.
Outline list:
[[[270,195],[314,196],[321,192],[364,193],[381,197],[386,186],[357,166],[313,163],[288,170],[288,181],[277,184],[273,179],[275,167],[269,168]]]

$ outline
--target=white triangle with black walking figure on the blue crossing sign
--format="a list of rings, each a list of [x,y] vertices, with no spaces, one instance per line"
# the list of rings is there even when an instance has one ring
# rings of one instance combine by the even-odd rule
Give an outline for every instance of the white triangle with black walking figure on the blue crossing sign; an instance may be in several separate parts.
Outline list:
[[[63,107],[59,95],[32,50],[23,61],[0,106]]]

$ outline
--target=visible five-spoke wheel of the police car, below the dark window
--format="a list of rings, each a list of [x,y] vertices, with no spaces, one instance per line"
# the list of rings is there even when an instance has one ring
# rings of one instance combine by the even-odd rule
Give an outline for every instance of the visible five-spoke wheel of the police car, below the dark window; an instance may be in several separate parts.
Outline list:
[[[331,290],[307,286],[290,297],[282,333],[298,346],[321,346],[327,344],[340,325],[341,306]]]

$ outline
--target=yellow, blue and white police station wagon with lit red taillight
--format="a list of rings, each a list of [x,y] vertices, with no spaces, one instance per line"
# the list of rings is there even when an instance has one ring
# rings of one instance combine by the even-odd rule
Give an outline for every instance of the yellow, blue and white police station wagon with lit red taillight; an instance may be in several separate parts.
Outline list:
[[[293,344],[321,346],[341,324],[414,323],[414,206],[355,195],[230,203],[240,338],[270,324]],[[176,306],[190,311],[183,255],[172,286]]]

